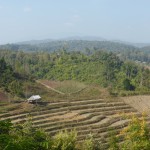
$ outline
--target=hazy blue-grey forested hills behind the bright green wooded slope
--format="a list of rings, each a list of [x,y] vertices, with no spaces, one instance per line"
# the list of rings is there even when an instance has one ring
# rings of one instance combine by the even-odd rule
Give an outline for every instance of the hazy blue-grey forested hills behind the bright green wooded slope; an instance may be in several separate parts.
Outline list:
[[[86,54],[95,51],[105,50],[116,53],[122,60],[133,60],[139,63],[150,63],[150,48],[136,47],[129,44],[111,41],[84,41],[84,40],[64,40],[64,41],[41,41],[24,42],[18,44],[1,45],[0,49],[28,51],[28,52],[54,52],[59,50],[80,51]]]

